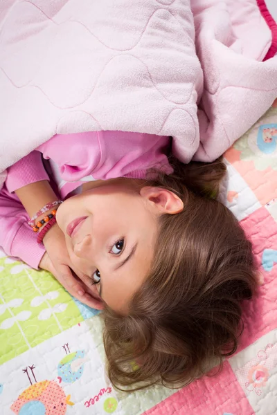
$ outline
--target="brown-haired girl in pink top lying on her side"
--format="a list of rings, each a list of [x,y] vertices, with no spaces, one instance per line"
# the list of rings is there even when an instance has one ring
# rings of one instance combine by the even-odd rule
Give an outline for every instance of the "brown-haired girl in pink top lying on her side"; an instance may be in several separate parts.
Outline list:
[[[224,164],[170,165],[169,149],[145,133],[56,135],[0,194],[7,254],[104,309],[117,387],[181,386],[222,362],[256,287],[251,243],[215,199]]]

